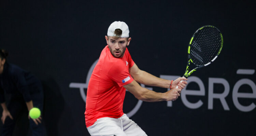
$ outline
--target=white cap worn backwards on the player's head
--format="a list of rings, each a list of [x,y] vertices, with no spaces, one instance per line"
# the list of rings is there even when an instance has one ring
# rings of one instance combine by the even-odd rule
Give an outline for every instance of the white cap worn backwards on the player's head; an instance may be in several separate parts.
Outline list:
[[[121,38],[129,37],[129,28],[125,22],[115,21],[112,24],[110,24],[109,29],[108,29],[108,36],[116,36],[114,34],[116,29],[122,30]]]

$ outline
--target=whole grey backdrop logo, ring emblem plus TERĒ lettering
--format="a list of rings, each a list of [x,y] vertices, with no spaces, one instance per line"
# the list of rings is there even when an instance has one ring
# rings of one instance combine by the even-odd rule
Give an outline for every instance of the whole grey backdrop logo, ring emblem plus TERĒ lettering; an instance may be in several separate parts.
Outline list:
[[[99,59],[98,59],[99,60]],[[86,83],[70,83],[70,88],[79,88],[80,89],[80,95],[84,102],[86,102],[86,94],[85,89],[88,87],[88,83],[91,77],[91,73],[93,73],[93,69],[96,66],[98,60],[96,60],[93,65],[91,65],[87,77],[86,77]],[[253,69],[238,69],[237,74],[245,74],[245,75],[253,75],[255,73],[255,70]],[[177,75],[160,75],[160,78],[167,79],[167,80],[173,80],[179,78]],[[190,96],[205,96],[205,86],[202,80],[196,76],[188,77],[188,84],[190,82],[195,82],[199,86],[199,90],[187,90],[186,87],[182,90],[181,93],[181,100],[183,104],[190,109],[197,109],[201,107],[204,103],[202,100],[198,100],[197,102],[191,103],[187,100],[186,95]],[[231,94],[230,91],[230,85],[226,79],[223,78],[209,78],[208,80],[208,109],[213,109],[213,99],[218,99],[225,111],[230,111],[230,108],[228,106],[228,103],[226,101],[226,97]],[[223,93],[214,93],[213,87],[214,84],[222,84],[224,86]],[[245,93],[245,92],[238,92],[238,90],[243,90],[243,88],[240,88],[242,85],[248,85],[252,88],[252,93]],[[142,87],[145,87],[145,85],[141,84]],[[153,90],[152,87],[146,87],[147,89]],[[168,89],[167,89],[168,90]],[[126,90],[127,91],[127,90]],[[248,98],[248,99],[256,99],[256,85],[251,79],[240,79],[238,80],[232,90],[232,100],[234,103],[234,106],[242,112],[250,112],[253,109],[255,109],[256,105],[252,102],[250,105],[245,106],[242,105],[239,102],[239,98]],[[132,117],[134,114],[137,113],[140,106],[142,104],[141,100],[138,100],[136,106],[127,114],[128,117]],[[172,101],[167,102],[167,107],[172,107]]]

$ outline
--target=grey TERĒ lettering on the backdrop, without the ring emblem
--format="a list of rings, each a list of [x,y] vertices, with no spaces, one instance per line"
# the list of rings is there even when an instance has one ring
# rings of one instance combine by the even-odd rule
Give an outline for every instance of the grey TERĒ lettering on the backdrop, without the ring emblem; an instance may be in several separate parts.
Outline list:
[[[255,73],[254,69],[238,69],[237,74],[243,74],[243,75],[253,75]],[[167,79],[167,80],[173,80],[179,78],[179,76],[174,75],[160,75],[160,78]],[[188,77],[188,84],[191,82],[195,82],[199,86],[199,90],[187,90],[187,86],[181,91],[181,100],[183,104],[190,108],[190,109],[197,109],[203,105],[203,102],[201,100],[198,100],[195,103],[191,103],[187,100],[186,96],[205,96],[205,87],[198,77],[191,76]],[[213,109],[213,99],[219,99],[221,102],[223,108],[225,111],[230,111],[228,103],[226,101],[226,97],[229,95],[230,86],[226,79],[223,78],[209,78],[208,80],[208,109]],[[214,84],[221,84],[224,86],[224,91],[222,93],[214,93],[213,87]],[[244,88],[240,88],[242,85],[248,85],[252,89],[252,93],[248,92],[238,92],[238,90],[244,91]],[[169,89],[167,89],[169,90]],[[230,93],[231,94],[231,93]],[[256,85],[251,79],[240,79],[238,80],[233,87],[232,90],[232,100],[234,103],[234,106],[242,112],[250,112],[253,109],[255,109],[256,105],[251,102],[250,105],[245,106],[242,105],[239,102],[238,98],[247,98],[247,99],[256,99]],[[167,107],[172,107],[172,101],[167,102]]]

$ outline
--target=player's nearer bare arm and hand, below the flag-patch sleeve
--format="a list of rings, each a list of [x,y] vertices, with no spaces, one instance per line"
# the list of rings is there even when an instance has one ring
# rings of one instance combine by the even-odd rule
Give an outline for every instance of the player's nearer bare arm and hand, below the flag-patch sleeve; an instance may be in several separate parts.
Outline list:
[[[141,87],[136,81],[124,85],[137,99],[147,102],[174,101],[180,96],[181,89],[174,88],[165,93],[155,92]]]

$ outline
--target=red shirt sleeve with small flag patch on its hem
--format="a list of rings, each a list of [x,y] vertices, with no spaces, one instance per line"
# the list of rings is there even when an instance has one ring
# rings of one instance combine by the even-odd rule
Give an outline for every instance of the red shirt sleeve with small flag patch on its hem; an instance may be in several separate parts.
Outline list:
[[[130,84],[133,81],[133,78],[131,77],[128,68],[122,63],[115,63],[114,65],[112,65],[108,72],[108,76],[120,87]]]

